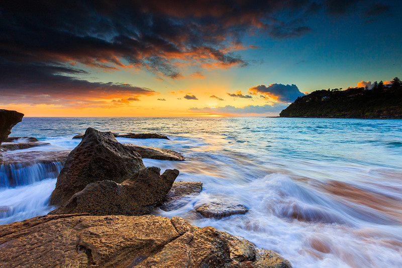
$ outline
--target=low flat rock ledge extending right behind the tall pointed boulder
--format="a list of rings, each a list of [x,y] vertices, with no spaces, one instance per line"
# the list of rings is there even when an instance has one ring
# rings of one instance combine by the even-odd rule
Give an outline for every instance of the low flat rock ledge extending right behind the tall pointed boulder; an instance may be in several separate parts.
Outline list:
[[[173,150],[162,149],[149,146],[140,146],[131,143],[123,143],[124,146],[130,148],[133,152],[139,153],[142,158],[152,158],[158,160],[184,161],[184,156]]]

